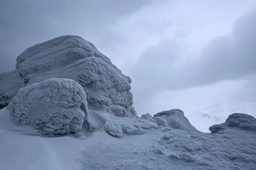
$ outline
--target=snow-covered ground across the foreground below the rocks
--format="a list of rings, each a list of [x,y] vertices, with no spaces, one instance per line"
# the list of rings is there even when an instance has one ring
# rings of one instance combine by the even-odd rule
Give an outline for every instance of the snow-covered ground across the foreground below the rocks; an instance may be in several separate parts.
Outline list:
[[[254,118],[241,116],[255,126]],[[4,108],[0,170],[255,170],[255,132],[227,124],[212,134],[159,127],[135,136],[100,130],[83,139],[43,138],[13,125]]]

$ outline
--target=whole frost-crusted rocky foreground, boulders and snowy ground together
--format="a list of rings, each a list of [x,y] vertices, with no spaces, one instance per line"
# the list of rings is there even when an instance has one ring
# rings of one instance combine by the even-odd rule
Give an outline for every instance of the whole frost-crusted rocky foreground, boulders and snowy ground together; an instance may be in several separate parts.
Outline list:
[[[180,109],[139,117],[131,79],[81,37],[28,48],[16,68],[0,74],[0,170],[256,169],[253,116],[212,133]]]

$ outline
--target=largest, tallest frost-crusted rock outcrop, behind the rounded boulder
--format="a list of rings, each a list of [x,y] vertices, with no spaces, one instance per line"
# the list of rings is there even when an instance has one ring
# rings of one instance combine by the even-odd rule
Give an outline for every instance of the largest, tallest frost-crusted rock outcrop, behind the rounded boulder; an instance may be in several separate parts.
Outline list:
[[[27,48],[17,57],[16,68],[26,85],[50,78],[73,79],[84,88],[89,109],[103,109],[120,117],[138,117],[132,106],[131,78],[79,36],[61,36]],[[12,88],[15,92],[10,97],[19,88]],[[0,94],[3,90],[0,88]],[[10,102],[0,98],[0,103],[3,100]]]

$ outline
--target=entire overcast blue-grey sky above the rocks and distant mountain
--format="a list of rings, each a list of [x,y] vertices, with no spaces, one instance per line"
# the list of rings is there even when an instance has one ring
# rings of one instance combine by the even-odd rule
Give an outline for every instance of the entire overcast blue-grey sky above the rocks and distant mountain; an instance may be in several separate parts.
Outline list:
[[[0,72],[65,34],[131,77],[139,115],[256,102],[255,0],[0,0]]]

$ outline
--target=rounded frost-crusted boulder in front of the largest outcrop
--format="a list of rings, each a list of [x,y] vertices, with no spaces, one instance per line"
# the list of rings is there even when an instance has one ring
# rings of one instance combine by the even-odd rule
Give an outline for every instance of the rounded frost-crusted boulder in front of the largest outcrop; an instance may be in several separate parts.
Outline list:
[[[7,106],[17,125],[32,125],[45,135],[77,133],[88,120],[86,94],[71,79],[47,79],[20,88]]]

